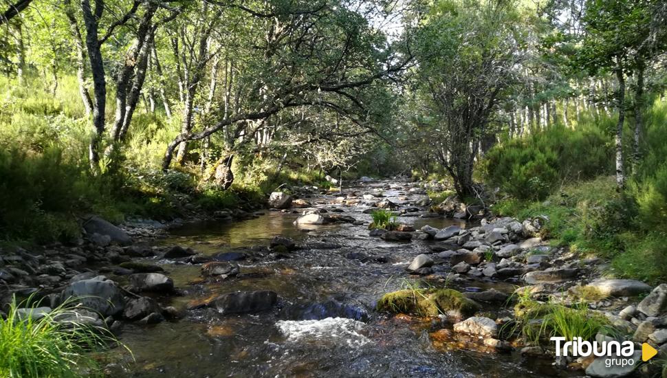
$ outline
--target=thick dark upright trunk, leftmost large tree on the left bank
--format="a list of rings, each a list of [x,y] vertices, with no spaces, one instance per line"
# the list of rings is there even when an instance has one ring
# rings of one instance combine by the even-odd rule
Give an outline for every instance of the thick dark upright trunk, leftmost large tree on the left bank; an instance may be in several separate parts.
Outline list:
[[[107,106],[107,81],[105,79],[105,65],[100,52],[98,41],[98,20],[102,18],[105,4],[103,0],[95,0],[95,9],[90,6],[90,0],[81,0],[83,23],[86,29],[86,47],[93,76],[93,127],[88,152],[91,168],[98,169],[100,161],[99,148],[102,134],[105,131],[105,110]]]

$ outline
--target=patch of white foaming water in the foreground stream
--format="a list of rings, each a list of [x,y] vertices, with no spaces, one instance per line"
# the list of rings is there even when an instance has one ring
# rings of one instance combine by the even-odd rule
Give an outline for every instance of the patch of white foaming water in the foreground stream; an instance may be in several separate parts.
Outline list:
[[[325,318],[322,320],[280,320],[278,329],[288,342],[331,342],[362,346],[368,337],[359,333],[366,324],[347,318]]]

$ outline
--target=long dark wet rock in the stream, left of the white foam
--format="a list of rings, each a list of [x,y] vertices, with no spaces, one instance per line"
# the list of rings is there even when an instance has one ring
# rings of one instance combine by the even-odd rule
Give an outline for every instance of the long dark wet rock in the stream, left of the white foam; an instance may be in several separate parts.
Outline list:
[[[210,302],[219,313],[256,313],[272,309],[278,302],[278,294],[270,290],[237,291],[223,294]]]

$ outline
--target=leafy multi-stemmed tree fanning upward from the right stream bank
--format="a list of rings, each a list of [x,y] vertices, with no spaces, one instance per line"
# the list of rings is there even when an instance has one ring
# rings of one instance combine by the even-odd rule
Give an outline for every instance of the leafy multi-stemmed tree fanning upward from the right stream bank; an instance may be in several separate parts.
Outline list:
[[[430,144],[459,197],[477,195],[472,169],[479,143],[518,76],[512,1],[436,1],[417,36],[419,96],[430,111]],[[423,124],[423,123],[422,123]]]

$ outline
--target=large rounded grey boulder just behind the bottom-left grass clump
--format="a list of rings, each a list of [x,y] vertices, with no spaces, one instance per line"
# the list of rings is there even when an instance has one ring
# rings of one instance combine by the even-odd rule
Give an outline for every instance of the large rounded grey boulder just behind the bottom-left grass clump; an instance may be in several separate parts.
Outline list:
[[[74,303],[79,303],[86,309],[96,311],[104,317],[116,315],[125,307],[120,289],[111,280],[92,278],[72,282],[61,293],[60,302],[65,302],[70,298]]]

